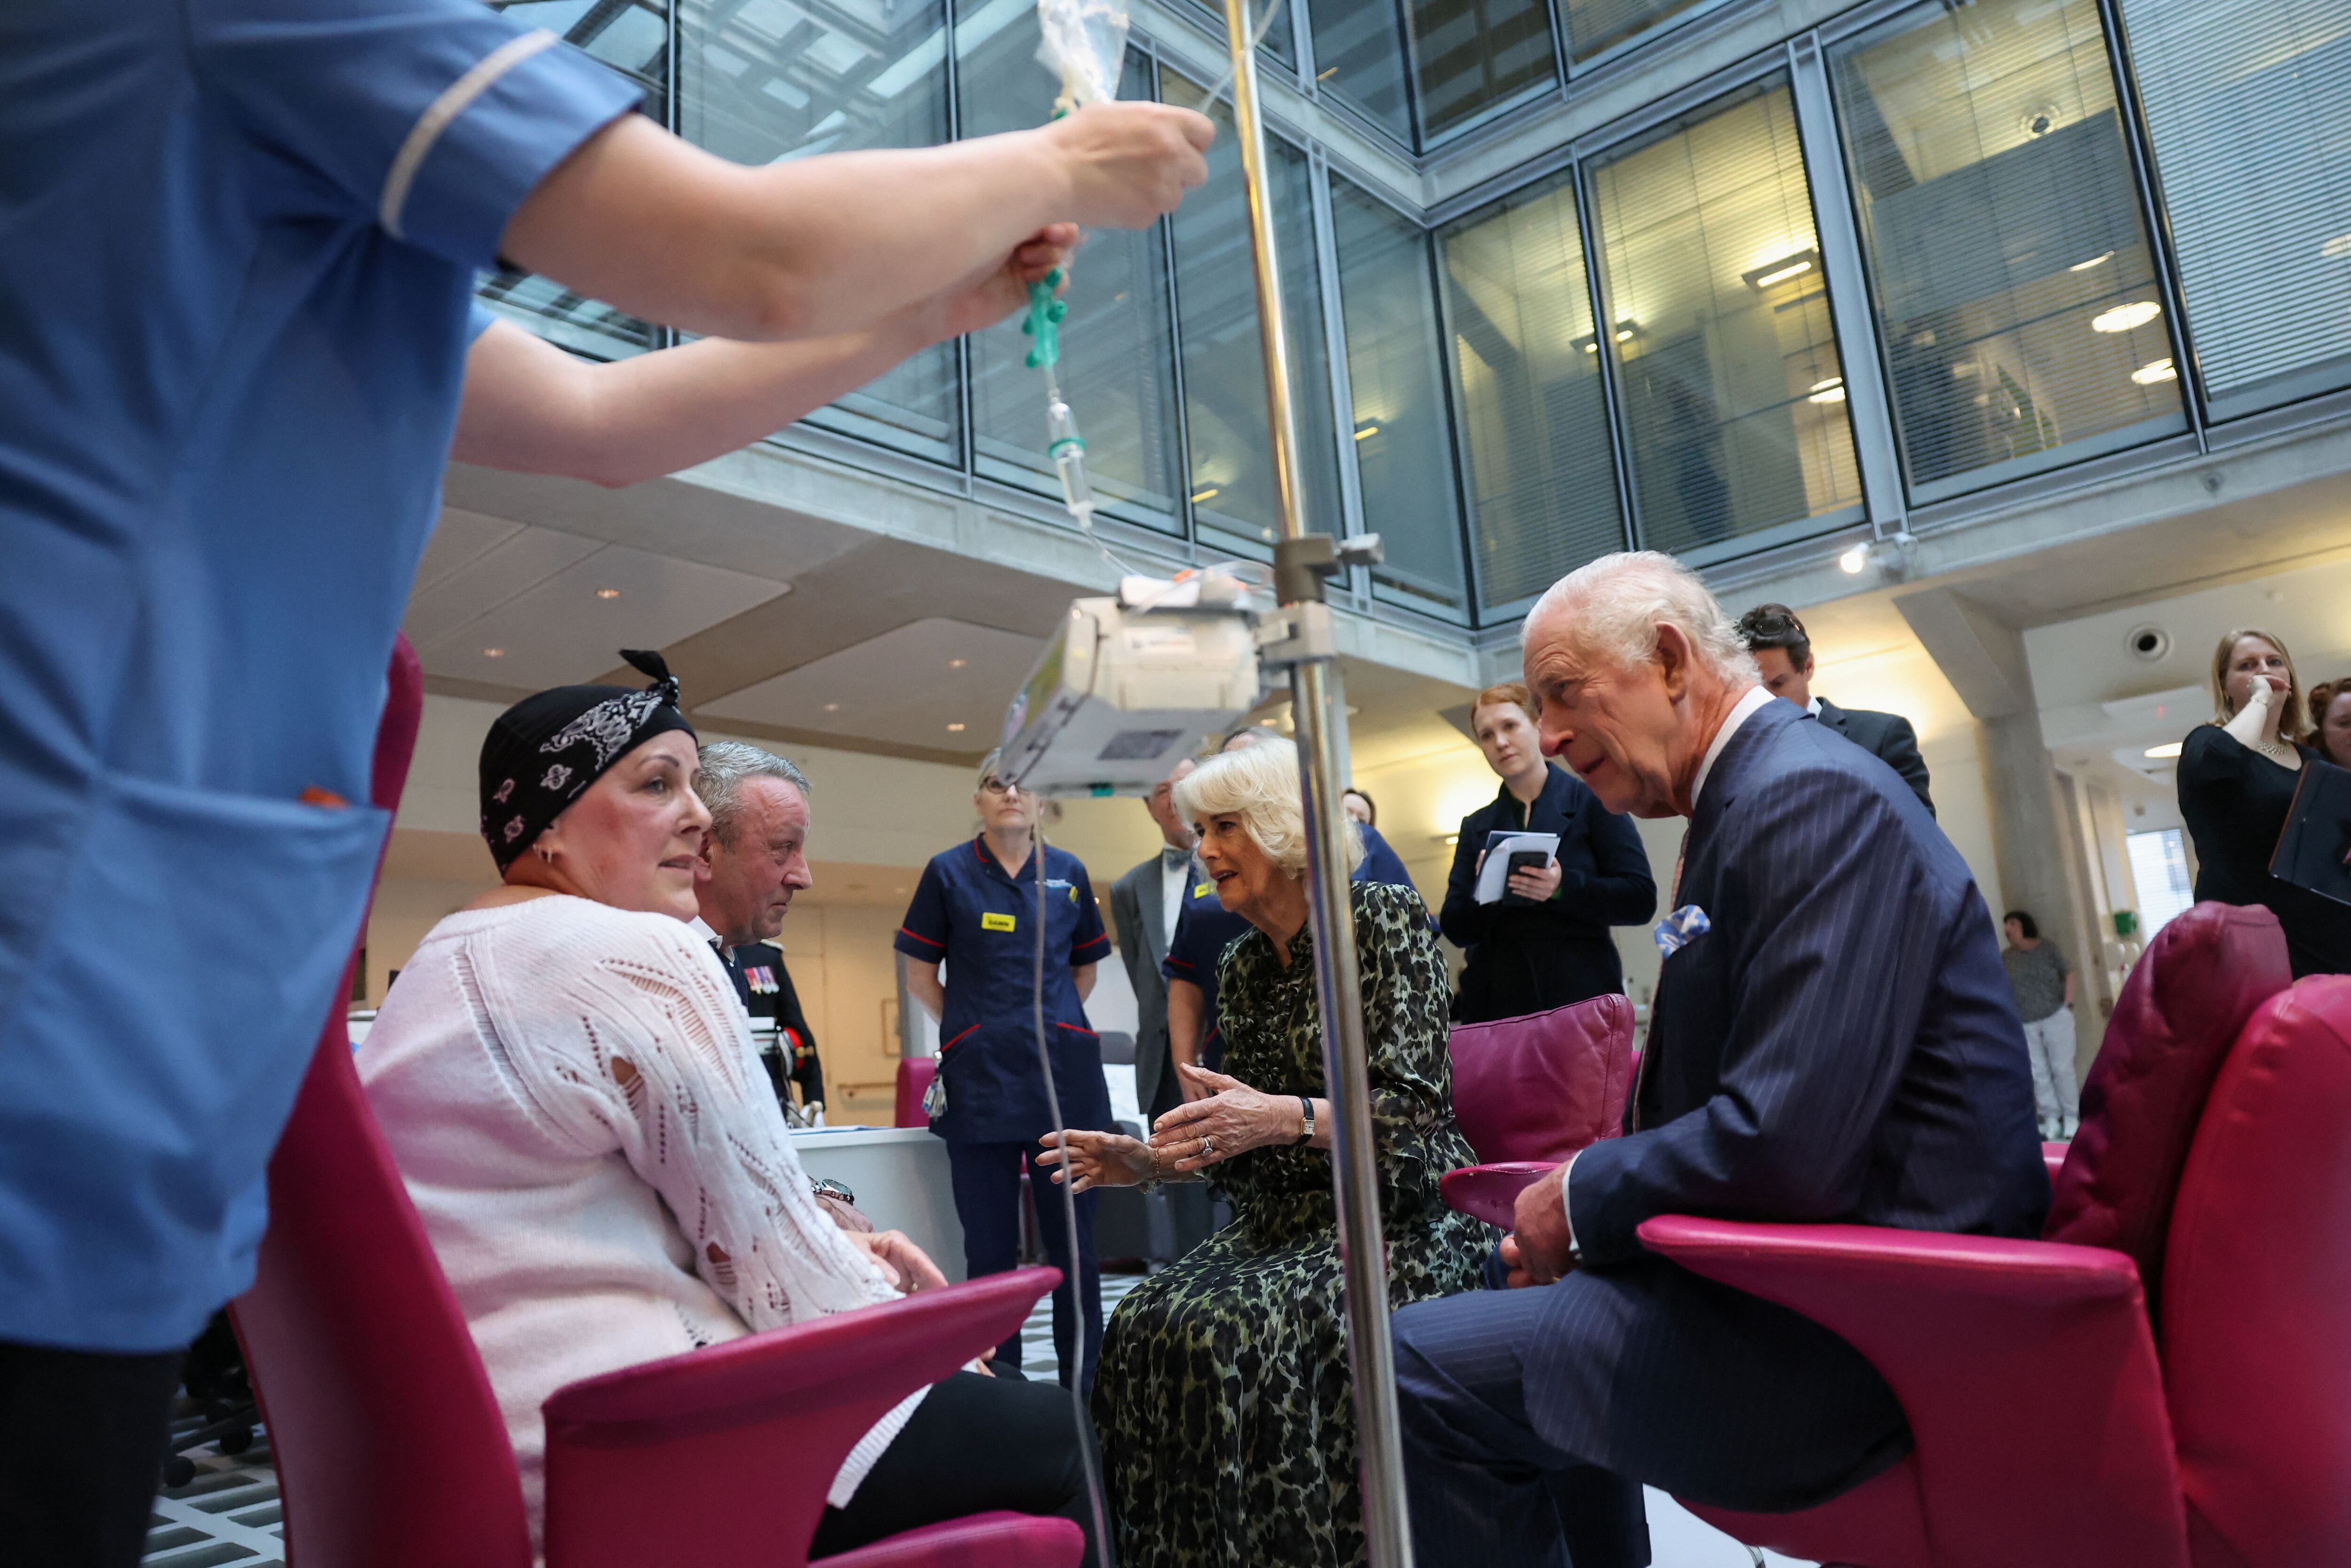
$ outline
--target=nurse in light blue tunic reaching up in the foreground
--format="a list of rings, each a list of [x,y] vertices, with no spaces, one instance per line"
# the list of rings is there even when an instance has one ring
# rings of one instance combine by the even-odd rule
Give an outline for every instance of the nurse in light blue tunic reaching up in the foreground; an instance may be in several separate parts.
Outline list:
[[[1206,179],[1213,125],[1164,103],[731,165],[545,9],[0,5],[0,1540],[26,1561],[139,1559],[181,1349],[252,1284],[383,851],[383,672],[451,451],[600,484],[698,463]],[[585,364],[475,306],[501,261],[703,341]],[[125,858],[176,889],[136,985]]]

